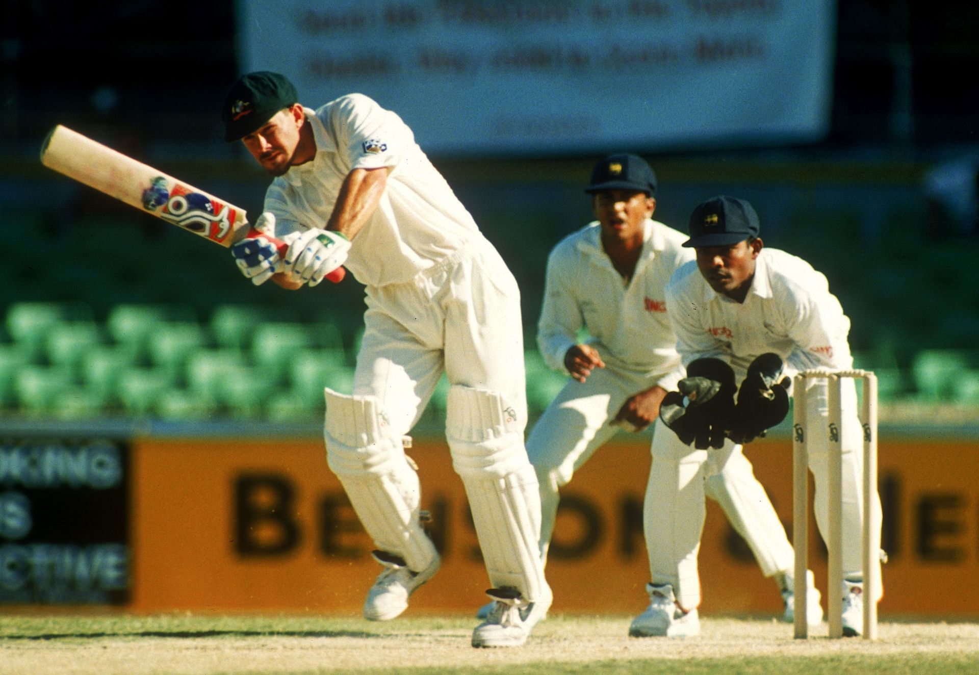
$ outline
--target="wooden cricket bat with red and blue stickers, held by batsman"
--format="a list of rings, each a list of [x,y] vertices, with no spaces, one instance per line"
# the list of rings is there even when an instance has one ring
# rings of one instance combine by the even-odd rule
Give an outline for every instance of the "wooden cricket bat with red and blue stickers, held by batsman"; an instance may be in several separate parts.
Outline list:
[[[263,237],[285,255],[289,245],[249,225],[245,209],[168,176],[136,159],[59,124],[44,139],[41,163],[79,183],[128,203],[166,222],[231,248]],[[346,276],[340,267],[326,276],[334,284]]]

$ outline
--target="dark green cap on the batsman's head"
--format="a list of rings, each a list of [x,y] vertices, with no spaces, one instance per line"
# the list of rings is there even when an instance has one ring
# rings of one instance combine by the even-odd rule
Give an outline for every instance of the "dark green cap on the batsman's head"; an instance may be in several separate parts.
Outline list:
[[[299,94],[289,79],[278,72],[247,72],[232,85],[224,105],[224,140],[237,141],[248,136],[284,108],[299,103]]]

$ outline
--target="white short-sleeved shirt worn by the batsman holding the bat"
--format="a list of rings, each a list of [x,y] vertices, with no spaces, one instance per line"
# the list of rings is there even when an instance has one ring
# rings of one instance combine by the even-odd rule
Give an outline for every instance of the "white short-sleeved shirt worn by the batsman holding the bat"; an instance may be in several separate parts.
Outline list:
[[[325,227],[350,171],[389,166],[393,169],[381,203],[353,238],[344,263],[358,282],[409,281],[482,238],[469,211],[395,112],[362,94],[304,110],[316,155],[277,177],[265,194],[265,210],[275,214],[276,236]]]

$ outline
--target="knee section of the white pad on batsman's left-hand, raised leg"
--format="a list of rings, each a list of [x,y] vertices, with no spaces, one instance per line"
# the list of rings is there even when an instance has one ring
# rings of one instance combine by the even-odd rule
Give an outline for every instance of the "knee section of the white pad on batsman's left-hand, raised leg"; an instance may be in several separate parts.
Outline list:
[[[339,474],[383,473],[403,461],[400,435],[387,422],[375,396],[348,396],[325,390],[323,438],[330,469]]]

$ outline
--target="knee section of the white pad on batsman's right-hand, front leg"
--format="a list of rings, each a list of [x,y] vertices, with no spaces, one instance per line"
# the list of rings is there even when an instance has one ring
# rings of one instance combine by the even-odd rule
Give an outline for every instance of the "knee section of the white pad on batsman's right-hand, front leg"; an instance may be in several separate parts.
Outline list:
[[[452,466],[463,476],[500,477],[530,464],[524,448],[524,421],[495,391],[461,384],[449,387],[445,437]]]

